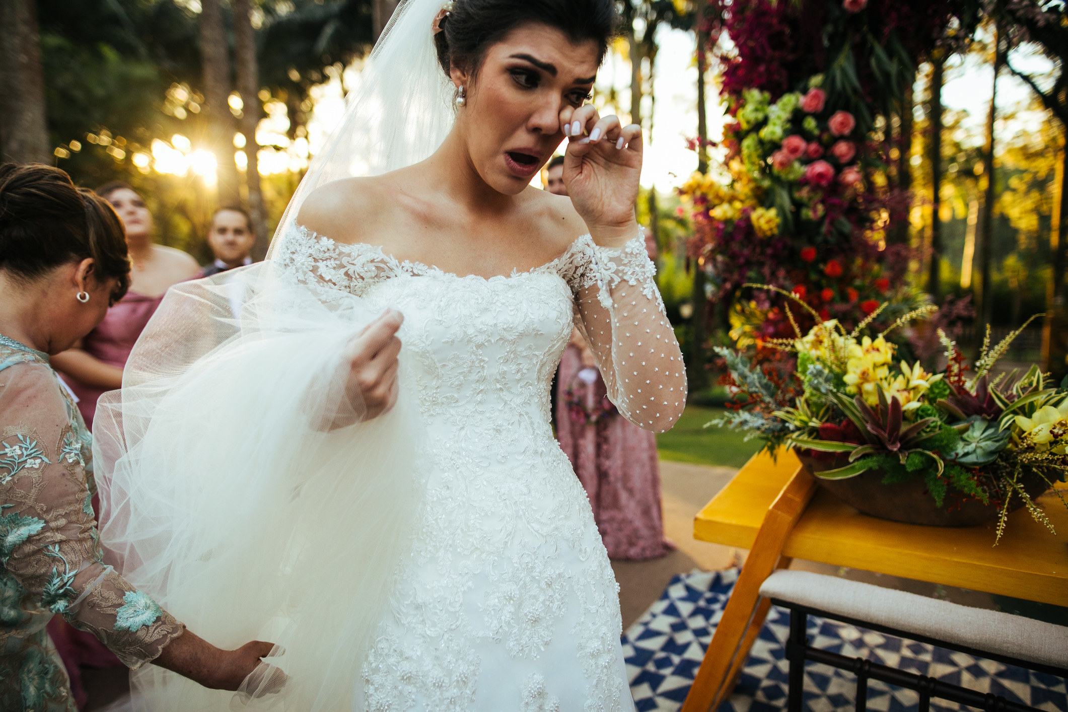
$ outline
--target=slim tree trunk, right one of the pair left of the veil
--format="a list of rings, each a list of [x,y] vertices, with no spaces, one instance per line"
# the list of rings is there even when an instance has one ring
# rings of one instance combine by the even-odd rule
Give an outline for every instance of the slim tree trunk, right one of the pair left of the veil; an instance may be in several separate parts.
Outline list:
[[[245,185],[249,193],[249,220],[256,235],[253,253],[256,259],[267,254],[270,236],[267,234],[267,216],[264,213],[263,192],[260,189],[260,161],[256,143],[256,126],[263,108],[260,104],[260,68],[256,64],[256,41],[249,19],[249,0],[231,0],[234,9],[234,57],[237,65],[237,91],[241,94],[241,133],[245,136],[245,154],[248,163],[245,169]]]

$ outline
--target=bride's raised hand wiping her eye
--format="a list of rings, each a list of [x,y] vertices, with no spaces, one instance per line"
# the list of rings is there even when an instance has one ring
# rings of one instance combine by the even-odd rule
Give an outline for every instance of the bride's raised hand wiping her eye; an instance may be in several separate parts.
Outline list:
[[[638,234],[634,202],[642,173],[642,127],[622,126],[585,105],[560,112],[564,136],[564,185],[594,241],[618,247]]]

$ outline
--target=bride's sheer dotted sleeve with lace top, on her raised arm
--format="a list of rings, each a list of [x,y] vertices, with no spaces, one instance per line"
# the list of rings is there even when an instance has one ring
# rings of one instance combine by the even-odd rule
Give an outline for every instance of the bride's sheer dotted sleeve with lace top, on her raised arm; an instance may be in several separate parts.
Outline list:
[[[670,430],[686,407],[686,368],[641,236],[622,248],[579,238],[566,275],[576,326],[594,352],[608,395],[628,421]]]

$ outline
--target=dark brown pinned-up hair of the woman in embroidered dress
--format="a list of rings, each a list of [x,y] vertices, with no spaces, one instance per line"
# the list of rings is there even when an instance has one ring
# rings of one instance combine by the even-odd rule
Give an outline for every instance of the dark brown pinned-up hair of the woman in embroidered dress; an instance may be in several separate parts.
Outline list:
[[[122,299],[130,262],[111,205],[57,168],[0,165],[0,269],[29,282],[87,257],[98,282],[119,280],[111,299]]]

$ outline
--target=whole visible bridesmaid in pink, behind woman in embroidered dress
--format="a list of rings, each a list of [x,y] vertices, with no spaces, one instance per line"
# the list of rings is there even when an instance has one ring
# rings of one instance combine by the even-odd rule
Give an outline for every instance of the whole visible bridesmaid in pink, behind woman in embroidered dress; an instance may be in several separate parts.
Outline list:
[[[194,278],[200,270],[197,260],[185,252],[153,243],[152,213],[132,188],[112,183],[97,192],[115,208],[126,228],[126,242],[132,262],[130,288],[76,348],[51,359],[52,366],[63,375],[63,380],[78,397],[78,409],[90,428],[93,427],[97,398],[106,391],[122,386],[123,367],[134,343],[156,312],[167,289]],[[97,512],[98,505],[94,496],[93,509]],[[119,659],[93,635],[72,628],[60,616],[48,623],[48,633],[66,665],[79,708],[85,703],[79,665],[123,667]]]

